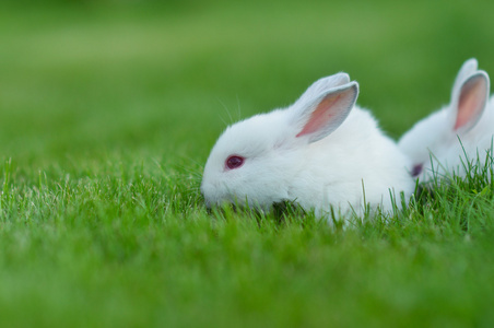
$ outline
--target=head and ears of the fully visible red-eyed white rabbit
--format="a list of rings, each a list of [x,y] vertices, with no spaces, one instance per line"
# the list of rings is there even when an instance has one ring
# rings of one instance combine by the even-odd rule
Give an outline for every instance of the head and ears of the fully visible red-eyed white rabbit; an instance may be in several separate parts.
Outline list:
[[[358,84],[338,73],[316,81],[287,108],[230,126],[204,166],[201,192],[207,206],[269,209],[293,200],[293,180],[305,169],[306,153],[345,120],[357,94]]]

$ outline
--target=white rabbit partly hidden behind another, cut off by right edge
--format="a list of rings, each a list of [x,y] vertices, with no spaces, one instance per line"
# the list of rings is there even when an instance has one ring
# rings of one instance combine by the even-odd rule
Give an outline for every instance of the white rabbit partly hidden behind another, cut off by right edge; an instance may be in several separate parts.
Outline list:
[[[468,163],[484,165],[494,133],[493,101],[489,101],[487,73],[467,60],[455,80],[449,105],[415,124],[398,145],[413,164],[412,175],[422,181],[451,176],[464,177]],[[484,110],[487,107],[487,110]],[[479,156],[478,156],[479,155]]]

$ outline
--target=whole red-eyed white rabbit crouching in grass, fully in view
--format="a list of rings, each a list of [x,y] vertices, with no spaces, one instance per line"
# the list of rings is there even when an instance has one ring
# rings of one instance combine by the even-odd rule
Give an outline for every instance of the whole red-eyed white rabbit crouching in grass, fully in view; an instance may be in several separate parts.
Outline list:
[[[290,107],[228,127],[205,163],[208,207],[223,202],[269,210],[295,201],[326,216],[366,203],[392,209],[414,191],[408,159],[366,110],[354,107],[358,84],[345,73],[320,79]],[[352,110],[353,109],[353,110]],[[336,218],[338,219],[338,218]]]

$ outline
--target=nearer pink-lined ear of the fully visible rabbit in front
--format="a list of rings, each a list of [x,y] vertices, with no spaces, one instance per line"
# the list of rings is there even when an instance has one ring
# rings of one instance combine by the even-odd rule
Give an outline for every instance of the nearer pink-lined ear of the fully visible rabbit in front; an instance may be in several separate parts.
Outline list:
[[[306,93],[295,103],[293,122],[296,138],[307,136],[310,143],[329,136],[344,121],[355,105],[358,83],[329,89],[311,99],[304,98]]]

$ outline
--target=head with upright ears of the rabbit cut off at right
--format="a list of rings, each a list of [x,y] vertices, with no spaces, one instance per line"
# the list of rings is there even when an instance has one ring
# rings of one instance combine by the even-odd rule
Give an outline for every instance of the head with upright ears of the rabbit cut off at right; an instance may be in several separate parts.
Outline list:
[[[475,59],[467,60],[455,80],[449,105],[416,122],[398,142],[412,160],[413,176],[426,179],[433,172],[445,173],[443,164],[448,157],[460,161],[463,151],[460,140],[484,113],[489,89],[489,75],[478,70]]]

